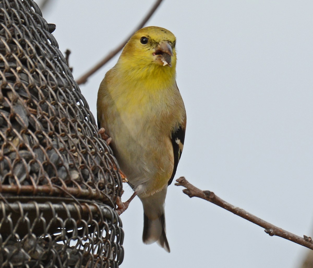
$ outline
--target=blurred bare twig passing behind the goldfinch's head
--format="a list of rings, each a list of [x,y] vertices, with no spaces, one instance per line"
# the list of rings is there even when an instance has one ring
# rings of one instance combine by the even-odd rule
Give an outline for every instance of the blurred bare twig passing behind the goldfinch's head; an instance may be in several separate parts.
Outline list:
[[[105,63],[107,63],[111,58],[113,58],[118,52],[120,52],[122,50],[122,48],[126,45],[126,43],[128,42],[128,40],[132,37],[132,35],[138,31],[139,29],[141,29],[146,22],[150,19],[150,17],[152,16],[152,14],[156,11],[156,9],[159,7],[159,5],[161,4],[162,0],[157,0],[155,2],[155,4],[153,5],[153,7],[151,7],[151,10],[147,13],[147,15],[143,18],[142,22],[138,25],[138,27],[136,28],[136,30],[134,32],[131,33],[131,35],[129,35],[118,47],[116,47],[114,50],[112,50],[111,52],[109,52],[108,55],[106,55],[100,62],[98,62],[94,67],[92,67],[88,72],[86,72],[85,74],[83,74],[80,78],[78,78],[76,80],[77,84],[81,85],[81,84],[85,84],[87,82],[88,77],[90,77],[91,75],[93,75],[96,71],[98,71],[103,65],[105,65]]]

